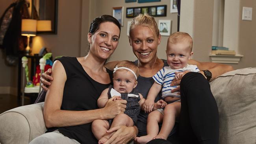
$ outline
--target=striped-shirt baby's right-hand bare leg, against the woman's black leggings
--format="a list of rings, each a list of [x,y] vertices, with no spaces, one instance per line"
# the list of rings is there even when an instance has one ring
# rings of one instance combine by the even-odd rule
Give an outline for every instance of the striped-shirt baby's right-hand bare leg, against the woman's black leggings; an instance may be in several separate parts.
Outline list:
[[[170,103],[165,106],[164,115],[163,115],[163,124],[161,127],[161,130],[159,134],[154,137],[155,138],[161,138],[161,139],[167,139],[169,133],[171,133],[171,130],[174,127],[175,119],[180,114],[180,102],[174,102]]]

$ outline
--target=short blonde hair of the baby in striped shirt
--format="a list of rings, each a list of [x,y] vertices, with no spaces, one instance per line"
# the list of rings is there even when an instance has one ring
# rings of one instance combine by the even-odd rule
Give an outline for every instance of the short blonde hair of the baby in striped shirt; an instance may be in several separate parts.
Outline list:
[[[189,44],[189,50],[190,52],[192,52],[192,48],[193,48],[193,39],[191,38],[191,36],[188,33],[185,32],[175,32],[173,34],[170,35],[170,37],[168,38],[167,43],[171,42],[172,44],[177,44],[180,42],[188,42]]]

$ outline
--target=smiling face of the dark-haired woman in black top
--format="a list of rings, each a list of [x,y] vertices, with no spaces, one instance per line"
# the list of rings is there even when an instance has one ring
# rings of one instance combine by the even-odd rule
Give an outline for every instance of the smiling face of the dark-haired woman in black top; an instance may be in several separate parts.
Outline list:
[[[90,53],[98,59],[108,59],[117,48],[120,30],[113,22],[103,22],[94,34],[88,33]]]

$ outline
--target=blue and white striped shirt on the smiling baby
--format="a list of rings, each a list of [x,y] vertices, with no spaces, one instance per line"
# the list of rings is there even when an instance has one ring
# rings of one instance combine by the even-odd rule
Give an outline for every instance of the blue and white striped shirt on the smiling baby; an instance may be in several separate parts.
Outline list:
[[[162,85],[162,98],[166,96],[173,96],[180,98],[180,95],[177,94],[178,92],[171,92],[172,89],[178,87],[170,86],[173,79],[175,78],[175,72],[183,72],[185,70],[189,70],[191,72],[199,72],[200,70],[197,68],[196,65],[188,65],[184,68],[180,69],[172,69],[170,66],[163,67],[158,73],[156,73],[152,78],[156,81],[156,83]]]

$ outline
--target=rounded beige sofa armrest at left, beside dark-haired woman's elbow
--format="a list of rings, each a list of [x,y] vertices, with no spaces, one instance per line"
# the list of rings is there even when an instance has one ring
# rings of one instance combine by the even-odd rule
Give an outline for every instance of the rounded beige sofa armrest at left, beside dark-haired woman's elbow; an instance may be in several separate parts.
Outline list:
[[[0,143],[28,144],[45,133],[43,104],[25,105],[0,114]]]

